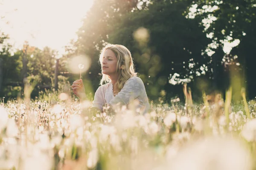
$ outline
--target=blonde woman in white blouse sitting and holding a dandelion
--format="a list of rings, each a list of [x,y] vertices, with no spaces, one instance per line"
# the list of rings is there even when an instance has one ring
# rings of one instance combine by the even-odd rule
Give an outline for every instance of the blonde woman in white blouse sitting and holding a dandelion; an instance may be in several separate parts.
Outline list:
[[[149,110],[148,96],[143,81],[137,77],[134,70],[131,52],[123,45],[108,44],[102,49],[99,56],[102,68],[102,79],[97,89],[93,106],[103,111],[103,105],[108,104],[111,108],[116,105],[128,105],[137,100],[137,107],[143,112]],[[81,79],[73,82],[73,93],[80,98],[86,99],[84,85]]]

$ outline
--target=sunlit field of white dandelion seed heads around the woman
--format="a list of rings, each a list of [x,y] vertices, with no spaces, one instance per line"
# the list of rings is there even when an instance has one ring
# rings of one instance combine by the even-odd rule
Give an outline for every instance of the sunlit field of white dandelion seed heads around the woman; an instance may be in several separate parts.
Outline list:
[[[256,102],[92,113],[64,93],[0,104],[0,170],[253,170]]]

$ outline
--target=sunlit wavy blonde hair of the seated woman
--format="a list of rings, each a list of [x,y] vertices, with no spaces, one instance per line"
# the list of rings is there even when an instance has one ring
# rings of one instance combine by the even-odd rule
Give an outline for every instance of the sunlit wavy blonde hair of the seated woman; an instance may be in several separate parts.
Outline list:
[[[116,88],[117,91],[121,91],[124,87],[125,82],[134,76],[137,76],[135,72],[133,59],[131,57],[131,52],[126,48],[124,45],[117,45],[117,44],[108,44],[106,45],[100,55],[99,55],[99,62],[102,65],[103,54],[104,52],[110,49],[116,55],[117,63],[116,63],[116,72],[119,73],[118,79],[116,81]],[[100,85],[104,83],[111,82],[111,79],[108,75],[102,73],[102,79],[100,80]]]

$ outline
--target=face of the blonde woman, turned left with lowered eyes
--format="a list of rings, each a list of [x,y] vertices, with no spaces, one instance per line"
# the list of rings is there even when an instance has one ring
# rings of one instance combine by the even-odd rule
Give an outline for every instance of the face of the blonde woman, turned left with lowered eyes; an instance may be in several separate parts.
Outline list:
[[[102,73],[108,76],[116,74],[116,64],[115,53],[110,49],[105,50],[102,58]]]

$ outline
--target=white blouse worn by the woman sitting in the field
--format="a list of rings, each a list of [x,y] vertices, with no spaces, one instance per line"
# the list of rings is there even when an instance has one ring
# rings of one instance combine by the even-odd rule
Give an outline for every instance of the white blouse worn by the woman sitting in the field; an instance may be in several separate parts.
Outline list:
[[[150,106],[145,86],[139,77],[131,77],[128,79],[116,96],[113,95],[112,82],[100,86],[95,93],[93,107],[103,110],[104,104],[110,104],[112,106],[116,104],[128,105],[133,99],[139,101],[139,108],[145,108],[144,113],[149,110]]]

